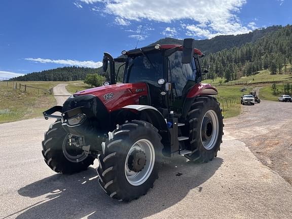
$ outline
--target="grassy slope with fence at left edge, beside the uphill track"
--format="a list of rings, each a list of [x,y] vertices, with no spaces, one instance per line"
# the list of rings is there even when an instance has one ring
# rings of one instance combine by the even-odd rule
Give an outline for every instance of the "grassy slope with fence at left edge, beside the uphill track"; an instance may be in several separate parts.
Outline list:
[[[21,82],[27,86],[50,89],[57,82]],[[55,105],[56,100],[47,91],[33,88],[13,89],[13,82],[0,82],[0,123],[12,122],[20,119],[28,119],[42,116],[42,112]]]

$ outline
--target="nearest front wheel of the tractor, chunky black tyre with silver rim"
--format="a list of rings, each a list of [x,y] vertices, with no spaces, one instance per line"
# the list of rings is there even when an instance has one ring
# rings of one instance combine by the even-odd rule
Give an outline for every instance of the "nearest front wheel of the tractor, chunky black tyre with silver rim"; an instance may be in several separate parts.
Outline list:
[[[145,195],[158,178],[163,148],[158,130],[134,120],[109,133],[109,138],[98,157],[100,186],[119,201]]]

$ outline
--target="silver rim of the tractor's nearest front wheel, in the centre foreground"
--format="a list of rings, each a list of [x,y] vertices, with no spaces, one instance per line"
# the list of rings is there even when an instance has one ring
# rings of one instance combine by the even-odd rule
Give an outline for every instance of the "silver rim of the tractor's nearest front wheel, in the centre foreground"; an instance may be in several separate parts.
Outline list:
[[[132,170],[129,166],[129,162],[131,163],[133,159],[139,159],[138,154],[141,155],[140,157],[145,156],[145,164],[143,168],[137,172],[137,170]],[[133,158],[133,155],[136,155],[136,157]],[[137,163],[139,163],[139,160]],[[142,185],[151,175],[154,164],[155,150],[151,141],[147,139],[136,141],[130,148],[125,161],[125,175],[128,182],[133,186]]]

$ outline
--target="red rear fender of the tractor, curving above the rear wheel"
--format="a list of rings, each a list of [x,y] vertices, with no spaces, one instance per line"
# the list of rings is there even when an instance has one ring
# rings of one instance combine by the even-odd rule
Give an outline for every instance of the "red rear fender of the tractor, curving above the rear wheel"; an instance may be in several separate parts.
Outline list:
[[[184,101],[184,106],[182,107],[181,117],[186,118],[190,108],[194,102],[194,99],[197,96],[201,95],[217,95],[218,91],[215,87],[212,87],[210,84],[196,84],[187,94],[187,97]]]

